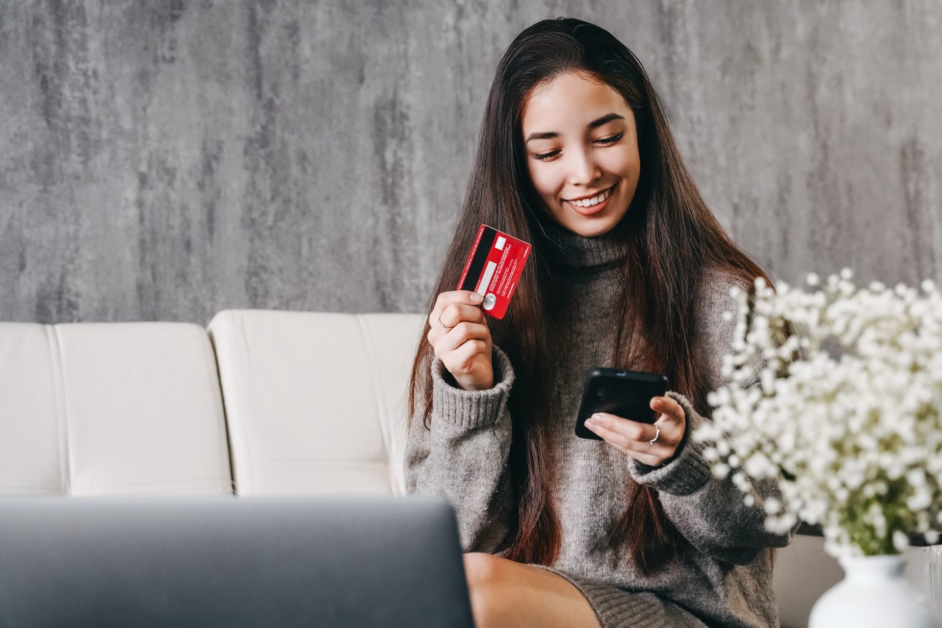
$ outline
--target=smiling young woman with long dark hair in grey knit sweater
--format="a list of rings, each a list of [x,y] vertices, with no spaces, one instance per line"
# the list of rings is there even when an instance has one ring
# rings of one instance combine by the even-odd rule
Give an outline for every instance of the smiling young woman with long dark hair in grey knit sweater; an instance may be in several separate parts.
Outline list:
[[[481,223],[533,245],[503,319],[454,290]],[[608,31],[558,18],[512,42],[445,259],[405,474],[455,507],[477,624],[777,626],[769,548],[790,534],[765,531],[688,438],[730,380],[730,288],[771,280],[708,210],[641,63]],[[666,375],[657,422],[603,414],[603,440],[577,438],[593,366]]]

